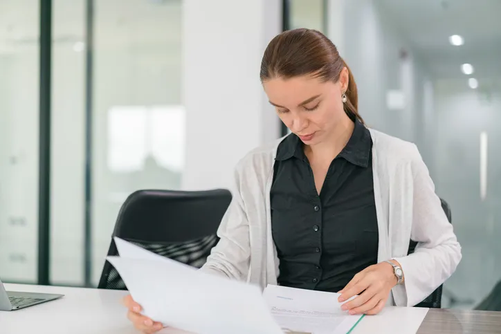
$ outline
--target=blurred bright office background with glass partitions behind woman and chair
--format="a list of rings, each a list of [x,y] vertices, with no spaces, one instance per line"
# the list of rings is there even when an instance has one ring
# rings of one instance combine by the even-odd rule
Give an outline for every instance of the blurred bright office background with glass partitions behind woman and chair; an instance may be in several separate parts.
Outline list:
[[[262,52],[307,27],[352,68],[367,124],[418,145],[463,247],[443,306],[474,307],[501,279],[500,16],[499,0],[0,1],[1,279],[96,286],[128,194],[229,187],[286,133]]]

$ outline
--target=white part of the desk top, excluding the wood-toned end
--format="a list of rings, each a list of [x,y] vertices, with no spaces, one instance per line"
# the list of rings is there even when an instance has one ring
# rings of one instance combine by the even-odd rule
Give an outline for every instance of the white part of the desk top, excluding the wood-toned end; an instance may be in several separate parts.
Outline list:
[[[10,312],[0,311],[1,334],[137,334],[120,304],[127,291],[6,284],[6,290],[61,293],[65,297]],[[386,308],[364,317],[352,334],[414,334],[406,331],[423,310]],[[416,328],[416,327],[415,327]],[[174,331],[161,333],[174,334]],[[177,332],[179,333],[179,332]]]

